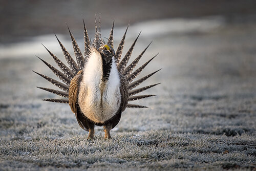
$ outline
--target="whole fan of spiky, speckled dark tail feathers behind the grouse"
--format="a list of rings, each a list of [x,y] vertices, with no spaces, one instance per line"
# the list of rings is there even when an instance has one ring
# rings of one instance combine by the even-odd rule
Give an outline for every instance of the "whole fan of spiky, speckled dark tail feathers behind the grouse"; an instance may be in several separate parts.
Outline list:
[[[113,31],[114,31],[114,23],[115,20],[113,21],[113,25],[112,25],[112,29],[110,31],[110,35],[109,35],[109,39],[108,39],[108,44],[111,45],[113,47],[114,44],[114,36],[113,36]],[[115,55],[115,60],[117,63],[117,68],[120,71],[120,73],[126,77],[127,82],[129,83],[128,88],[129,88],[129,101],[133,101],[133,100],[139,100],[139,99],[143,99],[143,98],[147,98],[147,97],[152,97],[155,95],[136,95],[140,92],[143,92],[147,89],[150,89],[152,87],[157,86],[160,83],[156,83],[156,84],[151,84],[150,86],[145,86],[139,89],[135,89],[137,86],[139,86],[140,83],[142,83],[143,81],[145,81],[147,78],[151,77],[152,75],[154,75],[156,72],[158,72],[159,70],[148,74],[136,81],[133,81],[140,73],[141,71],[148,65],[148,63],[150,63],[157,55],[155,55],[153,58],[151,58],[150,60],[148,60],[147,62],[145,62],[141,67],[139,67],[136,71],[133,72],[134,68],[136,67],[136,65],[138,64],[139,60],[141,59],[142,55],[145,53],[145,51],[147,50],[147,48],[151,45],[152,42],[150,42],[150,44],[141,52],[141,54],[135,59],[133,60],[129,66],[126,67],[127,63],[129,62],[133,49],[135,47],[136,41],[138,40],[139,35],[136,37],[136,39],[134,40],[132,46],[130,47],[130,49],[127,51],[127,53],[124,55],[124,57],[121,59],[121,55],[123,52],[123,46],[124,46],[124,40],[125,40],[125,36],[127,33],[127,30],[129,28],[129,25],[127,26],[123,37],[120,41],[120,44],[118,45],[118,48],[116,50],[116,55]],[[72,56],[70,55],[70,53],[66,50],[66,48],[63,46],[63,44],[60,42],[60,40],[58,39],[58,37],[56,36],[60,48],[63,52],[63,55],[66,58],[66,61],[69,65],[66,66],[59,58],[57,58],[51,51],[49,51],[44,45],[44,47],[46,48],[46,50],[49,52],[49,54],[53,57],[54,61],[57,63],[58,67],[60,68],[59,71],[56,68],[54,68],[53,66],[50,65],[50,63],[46,62],[45,60],[39,58],[42,62],[44,62],[51,70],[52,72],[59,77],[59,79],[63,82],[59,82],[53,78],[50,78],[46,75],[43,74],[39,74],[35,71],[36,74],[40,75],[41,77],[45,78],[46,80],[48,80],[49,82],[51,82],[52,84],[54,84],[56,87],[58,87],[59,89],[63,90],[63,91],[59,91],[59,90],[54,90],[54,89],[49,89],[49,88],[42,88],[42,87],[37,87],[39,89],[48,91],[50,93],[59,95],[65,99],[43,99],[45,101],[51,101],[51,102],[57,102],[57,103],[69,103],[68,100],[68,92],[69,92],[69,85],[70,85],[70,81],[71,79],[78,73],[78,71],[82,70],[84,67],[84,63],[86,63],[89,55],[90,55],[90,46],[91,46],[91,41],[89,39],[88,36],[88,32],[86,29],[86,25],[84,24],[84,20],[83,20],[83,29],[84,29],[84,56],[82,55],[77,42],[73,36],[73,34],[71,33],[69,27],[68,27],[68,31],[71,37],[71,41],[72,41],[72,45],[73,45],[73,49],[74,49],[74,54],[75,54],[75,59],[76,61],[72,58]],[[97,29],[97,18],[95,16],[95,38],[93,40],[93,46],[95,47],[99,47],[103,44],[103,40],[101,38],[101,33],[100,33],[100,18],[99,18],[99,31]],[[133,82],[132,82],[133,81]],[[136,96],[134,96],[136,95]],[[147,108],[147,106],[143,106],[143,105],[138,105],[138,104],[131,104],[128,103],[127,108]]]

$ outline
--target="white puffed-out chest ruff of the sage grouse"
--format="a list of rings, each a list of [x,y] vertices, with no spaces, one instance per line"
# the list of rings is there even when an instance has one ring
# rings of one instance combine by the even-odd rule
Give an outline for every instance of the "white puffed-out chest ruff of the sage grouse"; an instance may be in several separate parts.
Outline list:
[[[92,49],[80,83],[78,104],[81,112],[97,123],[112,118],[121,104],[120,78],[114,57],[109,80],[104,84],[102,78],[102,59],[95,49]]]

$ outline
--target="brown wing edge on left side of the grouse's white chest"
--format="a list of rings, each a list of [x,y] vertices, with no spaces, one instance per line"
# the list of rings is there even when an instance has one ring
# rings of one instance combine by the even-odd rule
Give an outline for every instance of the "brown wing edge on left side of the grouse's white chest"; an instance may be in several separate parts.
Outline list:
[[[72,78],[69,87],[69,105],[71,111],[76,114],[76,105],[77,105],[77,96],[78,96],[78,89],[79,89],[79,82],[82,79],[82,70],[80,70],[74,78]]]

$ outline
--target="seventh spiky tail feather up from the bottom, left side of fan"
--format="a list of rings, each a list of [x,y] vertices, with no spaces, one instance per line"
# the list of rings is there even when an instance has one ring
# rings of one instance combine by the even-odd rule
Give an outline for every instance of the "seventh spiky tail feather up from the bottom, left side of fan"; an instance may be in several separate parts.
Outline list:
[[[70,34],[70,37],[71,37],[74,53],[75,53],[75,56],[76,56],[76,62],[77,62],[77,65],[78,65],[78,68],[79,68],[79,71],[80,71],[80,70],[83,69],[83,66],[84,66],[84,58],[82,56],[82,52],[79,49],[79,47],[77,45],[77,42],[76,42],[73,34],[71,33],[69,27],[68,27],[68,30],[69,30],[69,34]]]

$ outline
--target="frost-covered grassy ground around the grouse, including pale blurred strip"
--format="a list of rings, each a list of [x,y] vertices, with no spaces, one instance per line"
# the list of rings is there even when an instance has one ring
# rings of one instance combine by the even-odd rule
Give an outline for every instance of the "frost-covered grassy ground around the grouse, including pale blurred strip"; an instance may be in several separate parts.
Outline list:
[[[34,55],[54,63],[42,43],[63,59],[54,35],[1,46],[0,170],[255,169],[256,23],[149,21],[130,27],[125,50],[140,30],[132,58],[153,40],[140,63],[159,55],[141,75],[162,68],[146,81],[162,84],[137,102],[150,108],[125,110],[112,140],[96,127],[88,141],[69,105],[41,101],[55,96],[36,86],[53,86],[31,70],[53,76]]]

